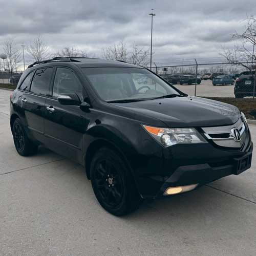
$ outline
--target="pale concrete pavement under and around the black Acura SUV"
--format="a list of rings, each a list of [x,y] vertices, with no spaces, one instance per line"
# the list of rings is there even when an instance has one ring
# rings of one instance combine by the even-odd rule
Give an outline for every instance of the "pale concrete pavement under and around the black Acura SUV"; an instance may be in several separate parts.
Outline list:
[[[255,255],[255,157],[240,176],[114,217],[96,201],[82,166],[45,148],[16,153],[9,95],[0,90],[1,256]],[[250,129],[256,145],[256,126]]]

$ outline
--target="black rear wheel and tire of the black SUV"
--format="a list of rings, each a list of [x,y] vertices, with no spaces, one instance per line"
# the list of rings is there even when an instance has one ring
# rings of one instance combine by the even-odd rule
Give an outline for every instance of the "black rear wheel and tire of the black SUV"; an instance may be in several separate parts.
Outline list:
[[[13,141],[16,151],[20,156],[30,156],[37,153],[37,145],[33,144],[23,127],[22,122],[19,118],[15,119],[12,126]]]

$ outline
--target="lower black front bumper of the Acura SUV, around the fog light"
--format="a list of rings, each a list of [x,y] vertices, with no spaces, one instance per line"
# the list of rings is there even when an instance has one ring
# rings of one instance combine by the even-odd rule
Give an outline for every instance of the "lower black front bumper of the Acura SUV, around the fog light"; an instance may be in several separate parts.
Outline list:
[[[247,152],[244,152],[241,157],[248,156],[251,162],[252,150],[253,143],[251,142]],[[237,159],[237,157],[233,157],[230,160],[223,162],[222,165],[216,166],[210,163],[182,165],[177,167],[169,177],[154,175],[143,177],[144,186],[142,189],[143,192],[141,193],[142,197],[155,199],[162,197],[166,189],[169,187],[186,186],[191,184],[198,184],[197,187],[199,187],[232,174],[238,175]],[[250,168],[250,162],[242,172]]]

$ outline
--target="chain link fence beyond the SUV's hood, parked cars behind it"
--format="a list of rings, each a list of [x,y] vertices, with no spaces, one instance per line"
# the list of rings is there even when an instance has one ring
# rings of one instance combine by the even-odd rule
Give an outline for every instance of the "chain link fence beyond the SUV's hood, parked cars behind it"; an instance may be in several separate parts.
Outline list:
[[[152,70],[188,95],[201,97],[255,98],[255,65],[251,71],[223,59],[191,59],[156,63]],[[242,61],[241,64],[248,65]],[[254,69],[254,70],[253,70]]]

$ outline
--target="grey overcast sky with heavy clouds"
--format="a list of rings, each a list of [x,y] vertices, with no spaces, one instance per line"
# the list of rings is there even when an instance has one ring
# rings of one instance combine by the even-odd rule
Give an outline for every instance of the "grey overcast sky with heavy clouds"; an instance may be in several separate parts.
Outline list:
[[[0,0],[0,45],[15,37],[28,44],[44,36],[53,52],[65,46],[85,49],[101,57],[103,48],[123,40],[150,47],[154,8],[153,61],[219,57],[221,47],[232,47],[255,0]],[[0,48],[0,52],[2,47]]]

